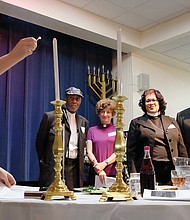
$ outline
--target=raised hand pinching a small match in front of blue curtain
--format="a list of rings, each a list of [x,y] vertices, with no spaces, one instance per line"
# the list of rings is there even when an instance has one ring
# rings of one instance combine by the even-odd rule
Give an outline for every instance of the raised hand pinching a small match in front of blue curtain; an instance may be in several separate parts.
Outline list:
[[[39,37],[38,39],[41,38]],[[10,55],[17,58],[18,60],[24,59],[35,51],[38,39],[35,39],[33,37],[21,39],[10,52]]]

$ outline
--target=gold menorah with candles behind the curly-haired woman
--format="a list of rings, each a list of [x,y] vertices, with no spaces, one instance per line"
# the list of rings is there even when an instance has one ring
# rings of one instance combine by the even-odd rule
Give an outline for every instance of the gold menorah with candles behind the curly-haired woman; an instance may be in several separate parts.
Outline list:
[[[117,93],[117,80],[110,76],[109,71],[104,72],[104,66],[102,66],[101,73],[100,68],[96,73],[95,67],[93,73],[91,73],[88,66],[88,86],[100,99],[110,98]]]

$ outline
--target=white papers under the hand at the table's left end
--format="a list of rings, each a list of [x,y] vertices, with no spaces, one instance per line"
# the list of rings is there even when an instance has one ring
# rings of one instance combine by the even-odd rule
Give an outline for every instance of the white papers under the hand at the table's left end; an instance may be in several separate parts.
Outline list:
[[[39,187],[13,185],[8,188],[0,183],[0,199],[24,198],[25,191],[39,191]]]

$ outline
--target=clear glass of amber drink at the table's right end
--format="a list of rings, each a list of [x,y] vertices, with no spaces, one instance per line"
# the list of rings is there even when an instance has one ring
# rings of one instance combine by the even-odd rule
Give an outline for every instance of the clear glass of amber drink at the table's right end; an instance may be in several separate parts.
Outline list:
[[[186,181],[186,173],[184,171],[171,170],[171,181],[175,187],[183,186]]]

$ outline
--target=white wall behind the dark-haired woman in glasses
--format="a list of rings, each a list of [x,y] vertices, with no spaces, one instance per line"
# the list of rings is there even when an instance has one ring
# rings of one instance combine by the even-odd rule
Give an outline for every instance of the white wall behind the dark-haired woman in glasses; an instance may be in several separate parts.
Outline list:
[[[113,62],[115,64],[115,62]],[[113,69],[116,71],[116,68]],[[124,130],[128,130],[131,119],[143,114],[138,106],[142,92],[138,92],[137,76],[140,73],[149,75],[150,88],[158,89],[167,104],[166,115],[176,118],[178,111],[190,106],[190,73],[168,66],[137,54],[123,56],[122,71],[124,74],[123,95],[128,97],[124,102]]]

